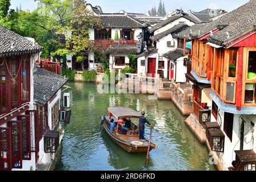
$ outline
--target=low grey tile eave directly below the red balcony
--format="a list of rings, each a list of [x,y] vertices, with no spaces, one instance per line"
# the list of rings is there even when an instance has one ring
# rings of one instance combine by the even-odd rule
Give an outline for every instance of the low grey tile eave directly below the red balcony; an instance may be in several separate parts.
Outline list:
[[[125,44],[118,44],[118,45],[111,45],[109,48],[105,50],[105,53],[117,55],[117,54],[138,54],[141,52],[139,46],[135,45],[125,45]]]

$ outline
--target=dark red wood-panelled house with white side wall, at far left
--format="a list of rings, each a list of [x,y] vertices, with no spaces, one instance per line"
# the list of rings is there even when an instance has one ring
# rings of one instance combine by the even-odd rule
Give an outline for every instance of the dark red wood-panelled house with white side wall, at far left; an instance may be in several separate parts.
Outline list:
[[[35,169],[34,77],[42,47],[0,26],[0,170]]]

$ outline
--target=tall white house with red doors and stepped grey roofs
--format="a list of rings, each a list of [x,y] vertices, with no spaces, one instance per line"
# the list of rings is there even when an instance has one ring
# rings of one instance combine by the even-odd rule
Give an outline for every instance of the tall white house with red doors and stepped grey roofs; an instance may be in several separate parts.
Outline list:
[[[183,31],[186,27],[192,26],[195,23],[198,23],[196,19],[183,13],[183,11],[178,11],[178,13],[173,14],[166,20],[152,26],[148,30],[148,34],[150,35],[149,41],[150,45],[157,49],[157,52],[149,52],[147,57],[143,55],[141,57],[137,56],[138,73],[142,73],[143,75],[149,73],[153,77],[159,74],[160,77],[174,78],[175,70],[177,69],[175,68],[175,65],[177,65],[175,61],[184,56],[181,55],[181,57],[177,58],[176,53],[181,51],[177,48],[179,46],[183,49],[183,40],[173,38],[173,35],[178,34],[178,32]],[[146,63],[141,66],[141,61],[143,62],[144,60]],[[182,70],[186,70],[186,68],[182,68]],[[182,74],[179,76],[185,77]]]

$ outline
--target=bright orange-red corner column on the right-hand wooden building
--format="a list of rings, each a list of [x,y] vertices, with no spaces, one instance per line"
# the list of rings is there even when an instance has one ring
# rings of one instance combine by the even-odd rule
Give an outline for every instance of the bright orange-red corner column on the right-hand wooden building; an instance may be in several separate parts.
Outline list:
[[[243,91],[243,47],[239,47],[238,57],[238,74],[237,74],[237,110],[242,107],[242,91]]]

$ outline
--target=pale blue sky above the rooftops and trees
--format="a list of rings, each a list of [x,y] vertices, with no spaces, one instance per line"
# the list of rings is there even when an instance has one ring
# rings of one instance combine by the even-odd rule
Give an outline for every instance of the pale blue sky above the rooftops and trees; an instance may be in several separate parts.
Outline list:
[[[125,10],[129,13],[146,13],[155,5],[158,8],[160,0],[87,0],[93,6],[101,6],[103,13],[117,13],[119,10]],[[201,11],[208,7],[212,9],[224,9],[232,11],[237,7],[245,4],[249,0],[162,0],[165,2],[166,12],[175,9]],[[37,9],[37,2],[34,0],[11,0],[11,9],[21,5],[22,10]]]

